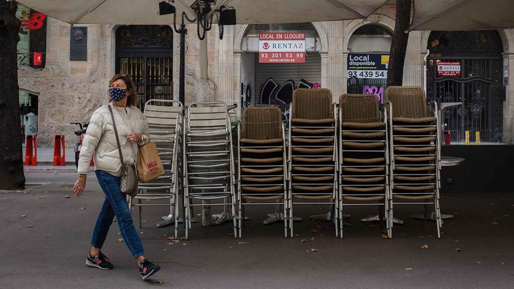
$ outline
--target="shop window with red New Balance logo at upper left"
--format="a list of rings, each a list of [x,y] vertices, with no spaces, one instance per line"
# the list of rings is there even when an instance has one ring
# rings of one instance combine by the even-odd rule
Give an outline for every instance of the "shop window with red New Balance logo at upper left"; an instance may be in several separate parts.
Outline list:
[[[22,21],[17,45],[19,65],[45,68],[47,17],[45,14],[18,4],[16,17]]]

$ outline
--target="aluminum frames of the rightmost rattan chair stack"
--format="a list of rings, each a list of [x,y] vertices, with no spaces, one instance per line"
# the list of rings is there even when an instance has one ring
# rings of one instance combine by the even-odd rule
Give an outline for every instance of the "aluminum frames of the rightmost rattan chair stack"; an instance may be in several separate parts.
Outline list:
[[[430,113],[433,113],[433,117],[435,117],[435,125],[428,125],[428,124],[413,124],[413,125],[398,125],[398,124],[395,124],[393,123],[393,115],[392,115],[392,111],[393,111],[393,104],[391,101],[388,101],[386,103],[386,106],[387,108],[389,109],[389,121],[388,121],[388,128],[389,128],[389,148],[390,148],[390,156],[391,156],[391,165],[390,165],[390,193],[389,193],[389,196],[390,196],[390,219],[389,219],[389,222],[390,222],[390,227],[391,229],[393,228],[393,208],[394,208],[394,205],[429,205],[429,204],[432,204],[434,205],[434,211],[435,211],[435,215],[436,215],[436,229],[437,229],[437,238],[440,239],[440,228],[443,226],[443,222],[442,222],[442,219],[441,219],[441,213],[440,213],[440,204],[439,204],[439,189],[440,189],[440,169],[441,169],[441,164],[440,164],[440,139],[439,139],[439,136],[440,136],[440,127],[439,127],[439,118],[438,118],[438,113],[437,113],[437,103],[435,101],[431,101],[430,103],[430,106],[429,106],[429,109],[430,109]],[[433,108],[432,108],[433,107]],[[413,145],[409,145],[409,144],[395,144],[394,143],[394,138],[395,137],[401,137],[401,134],[400,136],[398,135],[395,135],[393,132],[394,132],[394,128],[395,127],[407,127],[407,128],[426,128],[426,127],[435,127],[435,133],[434,134],[422,134],[422,135],[409,135],[407,137],[434,137],[434,141],[431,142],[430,145],[416,145],[416,144],[413,144]],[[432,144],[433,143],[433,144]],[[394,148],[397,147],[397,146],[400,146],[400,147],[434,147],[433,151],[435,153],[435,155],[427,155],[427,154],[419,154],[419,155],[405,155],[405,156],[402,156],[402,155],[397,155],[395,154],[395,150]],[[434,156],[434,164],[426,164],[425,166],[433,166],[434,169],[433,169],[433,173],[430,173],[430,174],[395,174],[395,169],[396,169],[396,162],[395,162],[395,157],[426,157],[426,156]],[[415,166],[424,166],[423,164],[416,164],[416,165],[406,165],[406,164],[401,164],[401,165],[398,165],[398,166],[412,166],[412,167],[415,167]],[[428,170],[430,171],[430,170]],[[403,176],[403,177],[409,177],[409,176],[416,176],[416,177],[430,177],[430,176],[434,176],[434,182],[433,183],[399,183],[399,184],[396,184],[395,183],[395,176]],[[432,192],[416,192],[416,193],[396,193],[394,192],[394,189],[395,189],[395,185],[399,186],[399,185],[434,185],[434,188],[433,188],[433,191]],[[430,196],[430,195],[433,195],[433,201],[430,201],[430,202],[396,202],[394,201],[394,196],[395,195],[408,195],[408,196],[412,196],[412,197],[417,197],[417,196]]]

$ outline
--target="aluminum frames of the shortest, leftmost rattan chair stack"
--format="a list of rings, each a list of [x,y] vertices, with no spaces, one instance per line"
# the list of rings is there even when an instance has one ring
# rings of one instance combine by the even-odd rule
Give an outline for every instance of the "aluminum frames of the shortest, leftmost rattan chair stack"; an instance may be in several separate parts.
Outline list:
[[[259,194],[251,194],[251,193],[245,193],[243,194],[242,192],[242,186],[245,186],[242,184],[242,180],[241,178],[242,177],[282,177],[283,178],[283,214],[284,214],[284,237],[287,238],[287,224],[288,224],[288,218],[287,218],[287,210],[288,210],[288,203],[289,203],[289,200],[288,200],[288,194],[287,194],[287,182],[288,182],[288,169],[287,169],[287,158],[286,158],[286,145],[285,145],[285,132],[284,132],[284,122],[282,122],[282,125],[281,125],[281,129],[282,129],[282,146],[277,146],[277,145],[264,145],[264,146],[245,146],[242,144],[241,142],[241,123],[237,125],[237,131],[239,132],[237,134],[237,159],[238,159],[238,175],[237,175],[237,185],[238,185],[238,194],[237,194],[237,202],[239,204],[239,214],[238,214],[238,227],[239,227],[239,238],[242,238],[243,236],[243,232],[242,232],[242,224],[243,224],[243,214],[242,214],[242,210],[243,210],[243,206],[245,205],[279,205],[280,202],[277,200],[277,202],[274,202],[274,203],[270,203],[270,202],[255,202],[255,203],[244,203],[243,202],[243,196],[259,196]],[[264,148],[264,149],[267,149],[267,148],[282,148],[282,158],[283,158],[283,161],[282,161],[282,175],[255,175],[255,176],[252,176],[252,175],[244,175],[243,176],[243,173],[241,171],[241,149],[242,148],[251,148],[251,149],[259,149],[259,148]],[[266,165],[247,165],[248,167],[252,167],[252,168],[255,168],[255,167],[270,167],[270,166],[266,166]],[[277,165],[273,165],[273,167],[277,167]],[[247,185],[247,186],[258,186],[258,185]],[[266,186],[271,186],[271,184],[267,184]],[[274,195],[274,196],[279,196],[280,194],[278,192],[274,193],[274,194],[265,194],[265,195]]]

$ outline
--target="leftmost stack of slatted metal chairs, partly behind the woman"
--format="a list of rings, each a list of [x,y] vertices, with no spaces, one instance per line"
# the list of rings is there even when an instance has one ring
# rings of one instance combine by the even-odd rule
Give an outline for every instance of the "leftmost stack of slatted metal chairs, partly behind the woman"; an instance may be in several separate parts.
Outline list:
[[[157,227],[175,223],[175,237],[178,237],[178,199],[182,186],[182,103],[173,100],[149,100],[144,105],[144,115],[150,127],[151,141],[164,166],[164,175],[138,184],[139,192],[130,198],[129,207],[138,207],[141,227],[142,206],[169,206],[170,214],[162,217]],[[135,203],[137,200],[137,203]],[[141,203],[141,200],[168,200],[159,203]]]

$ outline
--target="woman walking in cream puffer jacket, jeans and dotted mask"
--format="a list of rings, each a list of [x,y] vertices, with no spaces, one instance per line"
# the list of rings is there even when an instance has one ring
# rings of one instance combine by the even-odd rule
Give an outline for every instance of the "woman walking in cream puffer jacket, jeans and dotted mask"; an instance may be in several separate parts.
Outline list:
[[[73,192],[80,197],[86,185],[86,175],[91,156],[95,158],[95,174],[105,194],[102,210],[93,230],[91,251],[87,254],[86,265],[103,270],[113,268],[113,264],[101,252],[109,227],[116,216],[121,236],[128,250],[136,259],[139,273],[144,279],[159,271],[159,265],[145,259],[143,245],[132,222],[132,215],[126,196],[120,189],[121,160],[116,142],[111,111],[114,114],[116,128],[120,140],[123,161],[136,163],[138,145],[150,141],[148,121],[135,107],[137,94],[130,75],[116,74],[109,82],[109,104],[97,109],[89,125],[80,150],[78,172],[79,177]]]

